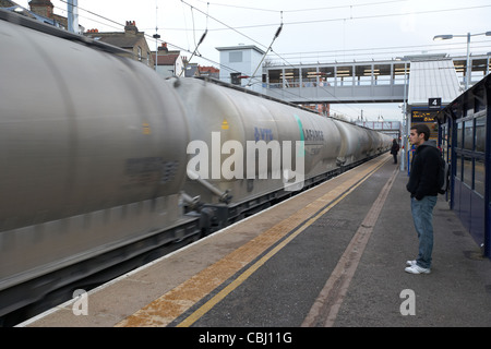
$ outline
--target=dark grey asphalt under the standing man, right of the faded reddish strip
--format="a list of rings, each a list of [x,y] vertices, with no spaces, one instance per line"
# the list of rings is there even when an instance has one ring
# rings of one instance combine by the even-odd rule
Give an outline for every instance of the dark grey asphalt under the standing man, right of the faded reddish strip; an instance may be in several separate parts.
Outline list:
[[[490,260],[442,195],[433,210],[432,273],[403,272],[418,253],[407,179],[398,172],[335,326],[491,326]],[[415,315],[400,313],[409,300],[403,290],[414,291]]]

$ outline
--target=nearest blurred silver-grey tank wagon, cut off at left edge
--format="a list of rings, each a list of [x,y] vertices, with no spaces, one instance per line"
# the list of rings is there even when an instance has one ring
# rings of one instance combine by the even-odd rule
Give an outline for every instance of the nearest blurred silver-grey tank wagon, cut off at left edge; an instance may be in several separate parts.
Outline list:
[[[170,86],[27,24],[0,20],[0,291],[179,224],[185,178]]]

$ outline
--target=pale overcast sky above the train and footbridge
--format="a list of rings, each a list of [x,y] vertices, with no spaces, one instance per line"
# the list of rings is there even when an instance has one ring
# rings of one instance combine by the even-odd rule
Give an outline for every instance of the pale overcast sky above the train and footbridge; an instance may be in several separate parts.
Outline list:
[[[28,0],[16,0],[28,8]],[[51,0],[55,13],[67,15],[65,0]],[[135,5],[137,4],[137,5]],[[79,23],[85,29],[120,32],[135,21],[141,32],[160,35],[169,49],[191,62],[219,68],[216,47],[255,45],[266,50],[280,23],[283,28],[266,58],[272,63],[330,63],[395,59],[405,55],[466,55],[466,38],[434,41],[441,34],[466,35],[491,31],[489,0],[79,0]],[[160,43],[158,43],[160,45]],[[188,52],[185,52],[188,51]],[[471,55],[491,51],[491,36],[471,38]],[[356,119],[400,120],[398,104],[332,105]]]

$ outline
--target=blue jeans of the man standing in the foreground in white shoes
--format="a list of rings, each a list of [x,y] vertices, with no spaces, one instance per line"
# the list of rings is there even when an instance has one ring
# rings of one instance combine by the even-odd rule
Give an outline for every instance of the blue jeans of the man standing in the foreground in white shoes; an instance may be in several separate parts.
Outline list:
[[[431,267],[433,251],[433,207],[436,196],[424,196],[420,201],[411,197],[411,213],[416,232],[419,239],[419,254],[417,264],[423,268]]]

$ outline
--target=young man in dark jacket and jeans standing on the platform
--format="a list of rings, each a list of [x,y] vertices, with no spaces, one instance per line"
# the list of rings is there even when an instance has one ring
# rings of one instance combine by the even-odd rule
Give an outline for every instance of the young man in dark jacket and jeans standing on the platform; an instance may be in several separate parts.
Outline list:
[[[430,129],[426,124],[411,128],[409,141],[416,146],[406,189],[411,193],[411,214],[419,239],[419,254],[407,261],[410,274],[430,274],[433,252],[433,208],[438,195],[440,151],[428,142]]]

